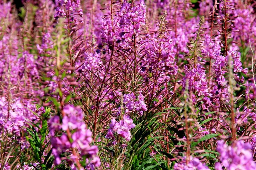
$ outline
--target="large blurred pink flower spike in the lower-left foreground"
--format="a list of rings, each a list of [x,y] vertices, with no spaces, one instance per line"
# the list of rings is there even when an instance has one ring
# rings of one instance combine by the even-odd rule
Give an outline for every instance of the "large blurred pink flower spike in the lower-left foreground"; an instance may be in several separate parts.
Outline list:
[[[55,163],[61,164],[61,154],[66,150],[70,150],[70,160],[75,162],[79,159],[73,149],[79,150],[80,156],[86,156],[91,159],[95,166],[100,165],[99,157],[96,157],[98,153],[98,147],[93,145],[92,132],[86,128],[83,121],[83,113],[81,108],[74,107],[73,105],[66,105],[63,108],[64,116],[60,120],[59,116],[53,116],[49,122],[50,134],[53,136],[51,139],[52,153],[55,156]],[[61,136],[55,136],[55,133],[61,133]]]

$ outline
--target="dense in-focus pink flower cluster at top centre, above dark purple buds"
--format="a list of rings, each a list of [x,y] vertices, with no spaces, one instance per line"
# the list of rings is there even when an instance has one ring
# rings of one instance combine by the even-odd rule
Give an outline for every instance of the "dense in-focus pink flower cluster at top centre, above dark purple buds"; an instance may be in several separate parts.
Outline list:
[[[140,28],[145,25],[145,4],[143,0],[133,5],[128,0],[122,3],[118,14],[102,18],[102,42],[113,45],[116,42],[123,47],[129,47],[133,35],[140,33]]]

